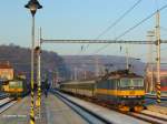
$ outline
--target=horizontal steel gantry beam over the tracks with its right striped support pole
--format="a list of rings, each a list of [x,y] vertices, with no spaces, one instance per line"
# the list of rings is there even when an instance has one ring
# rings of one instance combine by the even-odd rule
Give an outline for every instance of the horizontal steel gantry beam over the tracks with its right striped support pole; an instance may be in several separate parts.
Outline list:
[[[159,25],[157,25],[157,32],[158,32]],[[157,35],[156,35],[157,37]],[[63,39],[56,39],[56,40],[49,40],[49,39],[42,39],[40,38],[40,48],[42,43],[96,43],[96,44],[112,44],[112,43],[118,43],[118,44],[155,44],[157,46],[157,103],[160,103],[160,44],[161,43],[167,43],[167,40],[160,40],[160,37],[158,35],[156,41],[135,41],[135,40],[79,40],[79,39],[73,39],[73,40],[63,40]]]

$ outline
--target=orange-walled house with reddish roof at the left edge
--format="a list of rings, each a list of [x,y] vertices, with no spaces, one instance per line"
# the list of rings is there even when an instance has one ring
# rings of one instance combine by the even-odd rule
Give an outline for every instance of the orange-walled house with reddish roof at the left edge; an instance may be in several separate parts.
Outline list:
[[[8,62],[0,62],[0,81],[13,80],[13,68]]]

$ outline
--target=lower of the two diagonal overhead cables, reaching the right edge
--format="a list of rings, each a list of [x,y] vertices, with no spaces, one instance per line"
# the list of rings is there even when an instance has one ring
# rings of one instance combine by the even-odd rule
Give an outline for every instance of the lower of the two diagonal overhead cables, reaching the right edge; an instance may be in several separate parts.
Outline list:
[[[161,11],[164,9],[167,8],[167,4],[165,4],[164,7],[161,7],[158,11]],[[138,22],[137,24],[135,24],[134,27],[127,29],[125,32],[122,32],[120,35],[118,35],[115,40],[117,41],[118,39],[122,38],[124,35],[126,35],[127,33],[129,33],[130,31],[132,31],[134,29],[136,29],[138,25],[143,24],[145,21],[147,21],[148,19],[150,19],[153,16],[155,16],[157,13],[157,11],[155,11],[154,13],[149,14],[148,17],[146,17],[145,19],[143,19],[140,22]],[[95,51],[95,53],[98,53],[99,51],[106,49],[107,46],[109,46],[110,44],[106,44],[105,46],[98,49],[97,51]]]

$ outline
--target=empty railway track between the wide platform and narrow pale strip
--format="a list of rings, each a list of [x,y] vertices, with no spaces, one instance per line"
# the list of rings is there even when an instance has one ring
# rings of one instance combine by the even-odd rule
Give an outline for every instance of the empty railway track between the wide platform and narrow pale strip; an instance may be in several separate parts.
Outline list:
[[[88,124],[112,124],[112,122],[92,113],[91,111],[85,108],[84,106],[72,102],[71,100],[65,97],[58,92],[52,91],[52,93],[58,96],[62,102],[70,106],[75,112],[77,112]]]

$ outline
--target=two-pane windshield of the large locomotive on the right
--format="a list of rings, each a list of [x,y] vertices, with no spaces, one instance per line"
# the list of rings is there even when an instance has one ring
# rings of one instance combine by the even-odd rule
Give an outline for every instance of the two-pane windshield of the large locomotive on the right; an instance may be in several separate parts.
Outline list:
[[[121,79],[120,80],[120,86],[144,86],[144,80],[143,79]]]

